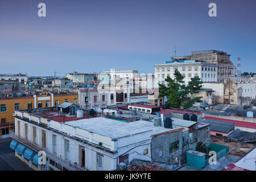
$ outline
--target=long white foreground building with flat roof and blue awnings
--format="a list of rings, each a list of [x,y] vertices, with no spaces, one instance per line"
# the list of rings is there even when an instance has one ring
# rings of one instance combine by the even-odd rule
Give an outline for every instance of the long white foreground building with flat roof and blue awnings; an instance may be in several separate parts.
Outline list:
[[[56,107],[49,110],[54,111]],[[35,170],[123,169],[134,159],[159,161],[162,155],[151,153],[151,145],[158,147],[159,136],[174,135],[170,142],[181,144],[183,128],[180,127],[166,129],[147,121],[125,123],[98,117],[64,123],[42,117],[45,113],[45,109],[39,108],[17,110],[14,115],[15,132],[11,137],[19,142],[18,147],[13,147],[15,155]],[[169,147],[168,140],[166,144],[164,147]],[[27,148],[32,151],[28,157]],[[45,164],[38,163],[39,151],[46,153]]]

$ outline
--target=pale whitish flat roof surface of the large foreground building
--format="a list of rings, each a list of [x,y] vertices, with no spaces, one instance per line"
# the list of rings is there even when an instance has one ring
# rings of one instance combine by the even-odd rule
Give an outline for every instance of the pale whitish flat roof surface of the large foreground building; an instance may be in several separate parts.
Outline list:
[[[150,130],[152,130],[152,135],[156,135],[166,133],[168,131],[174,131],[176,129],[182,129],[181,127],[176,127],[175,129],[155,127],[153,122],[148,121],[134,121],[126,123],[108,118],[80,119],[78,121],[69,121],[65,124],[113,139],[143,133]]]

